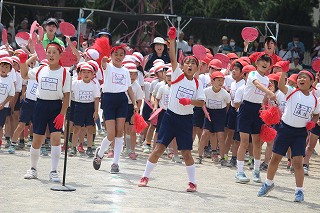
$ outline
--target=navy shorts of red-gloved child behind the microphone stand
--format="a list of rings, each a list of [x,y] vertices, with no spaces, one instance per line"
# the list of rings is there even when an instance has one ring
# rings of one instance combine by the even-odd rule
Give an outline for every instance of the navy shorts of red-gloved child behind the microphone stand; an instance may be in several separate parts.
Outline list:
[[[54,119],[60,114],[62,100],[42,100],[37,99],[35,105],[35,113],[33,114],[33,132],[38,135],[46,133],[47,125],[50,133],[61,132],[61,129],[54,127]]]

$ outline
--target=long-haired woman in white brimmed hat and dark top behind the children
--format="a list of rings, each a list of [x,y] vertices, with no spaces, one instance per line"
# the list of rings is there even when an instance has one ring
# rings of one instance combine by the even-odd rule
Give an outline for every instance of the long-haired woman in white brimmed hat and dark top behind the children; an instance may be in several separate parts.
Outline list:
[[[146,58],[147,62],[144,70],[150,70],[153,66],[153,62],[157,59],[162,59],[165,64],[170,63],[170,58],[168,54],[168,47],[165,40],[161,37],[156,37],[153,43],[150,45],[152,53]]]

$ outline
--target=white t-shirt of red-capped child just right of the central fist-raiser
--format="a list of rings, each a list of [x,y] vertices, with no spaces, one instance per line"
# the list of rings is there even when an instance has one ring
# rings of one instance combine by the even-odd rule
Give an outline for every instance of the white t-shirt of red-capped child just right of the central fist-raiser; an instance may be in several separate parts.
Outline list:
[[[206,107],[209,109],[223,109],[230,103],[230,94],[223,88],[219,92],[214,92],[212,87],[203,90],[206,96]]]

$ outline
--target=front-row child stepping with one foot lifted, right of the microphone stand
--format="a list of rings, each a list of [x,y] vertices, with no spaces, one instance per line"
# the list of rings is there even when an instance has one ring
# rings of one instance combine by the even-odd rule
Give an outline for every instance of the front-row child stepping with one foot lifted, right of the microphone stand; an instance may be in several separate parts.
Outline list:
[[[95,170],[100,168],[104,152],[111,142],[115,140],[111,174],[119,173],[124,123],[128,112],[128,98],[125,92],[128,92],[132,103],[134,103],[134,111],[138,112],[138,106],[131,88],[129,71],[122,66],[124,57],[125,46],[118,45],[111,49],[111,62],[106,63],[106,56],[103,57],[101,62],[104,76],[102,109],[108,135],[102,140],[101,146],[96,149],[93,168]]]

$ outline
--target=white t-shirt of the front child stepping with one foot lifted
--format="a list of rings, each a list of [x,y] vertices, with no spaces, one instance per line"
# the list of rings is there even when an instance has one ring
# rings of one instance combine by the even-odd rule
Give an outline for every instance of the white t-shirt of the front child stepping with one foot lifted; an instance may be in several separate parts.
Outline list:
[[[102,92],[121,93],[126,92],[131,86],[130,73],[127,68],[117,68],[112,62],[107,63],[107,69],[103,70]]]

